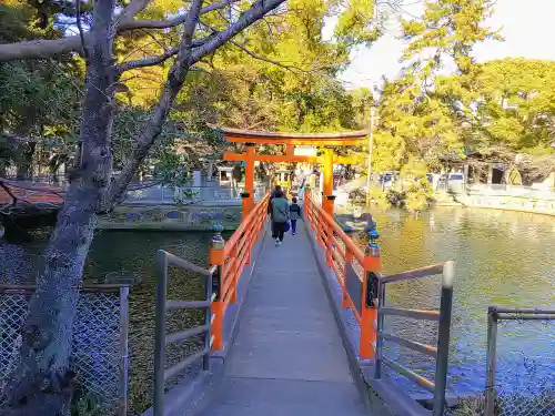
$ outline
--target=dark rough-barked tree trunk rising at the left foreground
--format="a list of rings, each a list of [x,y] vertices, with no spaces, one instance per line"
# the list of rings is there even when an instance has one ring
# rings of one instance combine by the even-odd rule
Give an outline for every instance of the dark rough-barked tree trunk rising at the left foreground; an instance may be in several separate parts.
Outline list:
[[[94,6],[91,43],[87,45],[80,170],[37,274],[37,291],[21,334],[20,359],[7,386],[8,400],[1,415],[69,415],[75,387],[75,375],[69,366],[73,318],[97,224],[95,212],[102,204],[112,168],[113,10],[114,0],[98,0]]]

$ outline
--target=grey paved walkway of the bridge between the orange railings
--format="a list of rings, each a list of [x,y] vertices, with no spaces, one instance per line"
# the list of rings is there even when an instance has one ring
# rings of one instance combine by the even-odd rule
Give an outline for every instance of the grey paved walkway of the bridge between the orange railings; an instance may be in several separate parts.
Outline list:
[[[261,252],[224,381],[202,416],[365,415],[300,222]]]

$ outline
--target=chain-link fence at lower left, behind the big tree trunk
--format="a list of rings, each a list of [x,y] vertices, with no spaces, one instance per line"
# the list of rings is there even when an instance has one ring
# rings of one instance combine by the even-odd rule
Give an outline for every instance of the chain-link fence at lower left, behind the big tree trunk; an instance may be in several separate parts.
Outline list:
[[[0,284],[0,407],[18,358],[21,329],[34,285]],[[79,394],[101,415],[125,416],[129,286],[83,286],[73,326],[71,363]]]

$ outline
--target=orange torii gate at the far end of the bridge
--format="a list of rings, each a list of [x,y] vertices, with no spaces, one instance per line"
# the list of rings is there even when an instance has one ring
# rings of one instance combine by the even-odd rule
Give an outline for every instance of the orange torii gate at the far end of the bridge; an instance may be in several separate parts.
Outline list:
[[[262,132],[253,130],[218,128],[223,131],[225,139],[232,143],[245,143],[245,153],[225,152],[226,161],[245,162],[245,191],[249,193],[243,217],[254,206],[254,162],[300,162],[322,163],[324,165],[324,189],[322,207],[333,216],[333,165],[354,164],[354,158],[335,156],[333,148],[346,145],[361,145],[366,141],[369,130],[340,132],[340,133],[282,133]],[[256,144],[285,145],[284,154],[260,154],[254,148]],[[294,154],[295,145],[312,145],[324,148],[323,156],[303,156]]]

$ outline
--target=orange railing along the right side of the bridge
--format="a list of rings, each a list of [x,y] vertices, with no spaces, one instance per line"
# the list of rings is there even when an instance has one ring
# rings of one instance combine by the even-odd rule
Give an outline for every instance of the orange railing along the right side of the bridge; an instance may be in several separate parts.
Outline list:
[[[373,358],[376,337],[372,322],[376,318],[373,304],[380,254],[364,254],[345,234],[310,191],[305,193],[305,219],[314,232],[315,242],[325,253],[326,266],[333,270],[343,292],[343,307],[352,311],[361,328],[359,355]]]

